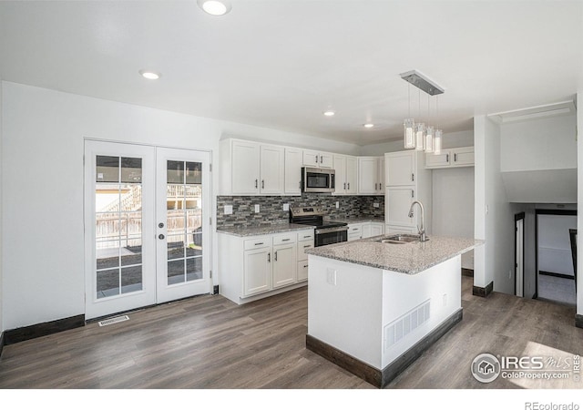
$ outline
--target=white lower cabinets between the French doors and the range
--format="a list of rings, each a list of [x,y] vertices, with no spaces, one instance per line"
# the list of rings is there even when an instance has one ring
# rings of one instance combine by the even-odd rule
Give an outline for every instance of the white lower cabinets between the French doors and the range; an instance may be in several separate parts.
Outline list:
[[[251,238],[218,232],[218,238],[219,292],[231,301],[251,302],[306,284],[305,250],[313,247],[313,230]]]

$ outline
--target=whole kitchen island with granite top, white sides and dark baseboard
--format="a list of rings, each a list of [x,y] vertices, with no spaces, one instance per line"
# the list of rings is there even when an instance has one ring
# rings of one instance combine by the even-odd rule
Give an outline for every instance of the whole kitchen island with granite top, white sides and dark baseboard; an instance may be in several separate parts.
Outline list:
[[[377,387],[462,320],[461,254],[483,243],[386,239],[306,252],[306,347]]]

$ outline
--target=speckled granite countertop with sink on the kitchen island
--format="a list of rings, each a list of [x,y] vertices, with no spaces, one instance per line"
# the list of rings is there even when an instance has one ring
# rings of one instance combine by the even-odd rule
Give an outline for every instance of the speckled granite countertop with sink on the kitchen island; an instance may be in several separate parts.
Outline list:
[[[385,236],[334,243],[309,249],[306,253],[413,275],[484,243],[469,238],[443,236],[431,236],[429,241],[424,242],[377,242]]]

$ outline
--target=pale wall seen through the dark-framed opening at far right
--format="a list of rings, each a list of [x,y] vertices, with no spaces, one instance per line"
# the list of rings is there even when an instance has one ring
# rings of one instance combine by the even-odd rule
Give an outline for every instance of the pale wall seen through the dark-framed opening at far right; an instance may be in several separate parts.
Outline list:
[[[577,229],[577,216],[538,215],[538,271],[573,275],[569,229]]]

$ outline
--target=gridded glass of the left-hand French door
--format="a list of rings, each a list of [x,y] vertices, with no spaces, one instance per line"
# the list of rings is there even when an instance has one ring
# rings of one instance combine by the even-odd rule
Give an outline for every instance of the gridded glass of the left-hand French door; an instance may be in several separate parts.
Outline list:
[[[96,164],[97,298],[141,291],[141,159],[97,156]]]

